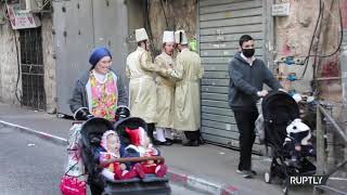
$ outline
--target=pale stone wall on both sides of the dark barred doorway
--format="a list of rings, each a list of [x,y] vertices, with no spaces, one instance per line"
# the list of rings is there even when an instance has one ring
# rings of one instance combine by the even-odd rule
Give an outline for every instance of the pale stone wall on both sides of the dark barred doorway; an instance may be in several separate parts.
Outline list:
[[[2,5],[0,5],[0,10],[3,10]],[[50,14],[44,14],[41,17],[41,24],[47,110],[54,113],[56,108],[55,61],[53,58],[52,18]],[[0,101],[21,105],[15,95],[17,93],[17,96],[21,98],[22,94],[22,78],[20,75],[18,79],[20,68],[17,63],[17,50],[21,48],[18,36],[18,31],[13,30],[9,23],[0,25]]]

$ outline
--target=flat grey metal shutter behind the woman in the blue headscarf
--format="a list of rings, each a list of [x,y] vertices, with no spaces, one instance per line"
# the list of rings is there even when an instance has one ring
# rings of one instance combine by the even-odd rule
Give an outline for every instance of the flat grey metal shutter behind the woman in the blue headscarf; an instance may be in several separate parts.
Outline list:
[[[57,113],[72,115],[68,99],[94,47],[106,47],[112,68],[125,80],[128,46],[127,6],[123,1],[53,1]]]

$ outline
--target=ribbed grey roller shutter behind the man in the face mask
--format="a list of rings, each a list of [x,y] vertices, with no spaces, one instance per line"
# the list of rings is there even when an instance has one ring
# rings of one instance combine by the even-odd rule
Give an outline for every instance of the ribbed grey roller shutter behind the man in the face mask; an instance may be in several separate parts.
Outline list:
[[[264,58],[262,0],[201,0],[198,3],[202,80],[202,133],[209,142],[239,147],[237,127],[228,105],[228,64],[239,38],[256,40],[256,56]],[[259,145],[254,150],[259,151]]]

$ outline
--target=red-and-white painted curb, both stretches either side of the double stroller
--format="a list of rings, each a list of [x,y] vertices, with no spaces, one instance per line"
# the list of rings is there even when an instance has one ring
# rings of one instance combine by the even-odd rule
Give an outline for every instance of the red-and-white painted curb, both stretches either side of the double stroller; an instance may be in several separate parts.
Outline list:
[[[20,130],[21,132],[39,136],[40,139],[52,142],[54,144],[59,144],[63,146],[67,145],[66,139],[55,136],[53,134],[49,134],[46,132],[37,131],[27,127],[7,122],[3,120],[0,120],[0,128],[11,128],[11,129]],[[219,195],[239,195],[239,188],[235,186],[216,184],[216,183],[206,181],[204,179],[194,177],[192,174],[190,176],[190,174],[180,173],[179,171],[170,170],[170,168],[168,170],[168,176],[171,183],[194,188],[197,191],[202,191],[205,193],[219,194]]]

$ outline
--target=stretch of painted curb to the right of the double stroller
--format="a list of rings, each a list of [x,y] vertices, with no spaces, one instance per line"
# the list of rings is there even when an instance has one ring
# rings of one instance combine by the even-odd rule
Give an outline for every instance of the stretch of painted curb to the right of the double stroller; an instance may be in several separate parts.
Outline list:
[[[209,194],[219,195],[239,195],[239,188],[233,185],[220,185],[206,181],[194,176],[189,176],[184,173],[178,173],[177,171],[168,170],[170,183],[182,185],[189,188],[194,188],[197,191],[203,191]]]

